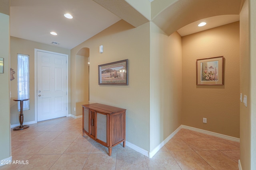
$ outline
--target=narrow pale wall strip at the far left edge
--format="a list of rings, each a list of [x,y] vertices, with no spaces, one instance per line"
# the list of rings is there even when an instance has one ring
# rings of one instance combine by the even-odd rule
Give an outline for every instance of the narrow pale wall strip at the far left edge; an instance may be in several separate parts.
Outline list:
[[[5,1],[8,8],[9,1]],[[2,4],[1,4],[2,5]],[[2,9],[0,9],[2,12]],[[0,160],[11,156],[10,141],[10,16],[0,13],[0,53],[4,58],[4,73],[0,73]]]

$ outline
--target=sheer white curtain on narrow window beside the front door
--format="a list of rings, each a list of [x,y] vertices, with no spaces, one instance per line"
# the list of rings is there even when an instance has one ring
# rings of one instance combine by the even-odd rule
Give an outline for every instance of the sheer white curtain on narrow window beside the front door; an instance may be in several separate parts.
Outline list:
[[[29,99],[29,56],[18,54],[18,99]],[[23,110],[30,109],[30,102],[23,102]],[[20,111],[20,102],[18,102]]]

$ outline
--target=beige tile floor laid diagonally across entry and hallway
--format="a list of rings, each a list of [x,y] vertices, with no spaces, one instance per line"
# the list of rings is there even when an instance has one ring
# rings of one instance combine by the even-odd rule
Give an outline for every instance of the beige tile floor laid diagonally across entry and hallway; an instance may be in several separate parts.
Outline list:
[[[82,136],[82,118],[63,117],[13,131],[12,160],[0,170],[238,170],[240,143],[181,129],[153,158]],[[28,164],[26,164],[28,163]]]

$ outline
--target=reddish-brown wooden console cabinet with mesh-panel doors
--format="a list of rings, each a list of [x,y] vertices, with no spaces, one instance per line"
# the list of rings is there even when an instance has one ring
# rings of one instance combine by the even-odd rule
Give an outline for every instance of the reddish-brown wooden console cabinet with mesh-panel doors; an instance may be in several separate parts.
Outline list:
[[[96,142],[108,147],[111,156],[112,147],[123,143],[125,147],[126,109],[104,104],[86,104],[83,107],[83,136],[86,134]]]

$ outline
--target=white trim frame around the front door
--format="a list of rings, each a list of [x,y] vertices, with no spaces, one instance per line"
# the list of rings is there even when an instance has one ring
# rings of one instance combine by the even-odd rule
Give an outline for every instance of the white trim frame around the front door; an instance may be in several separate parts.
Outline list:
[[[34,55],[34,102],[35,102],[35,122],[37,123],[37,52],[41,51],[44,53],[51,53],[51,54],[56,54],[56,55],[64,55],[66,56],[66,102],[67,102],[67,109],[66,109],[66,116],[68,117],[68,55],[67,54],[62,54],[62,53],[56,53],[52,51],[46,51],[46,50],[41,50],[41,49],[35,49],[35,55]]]

